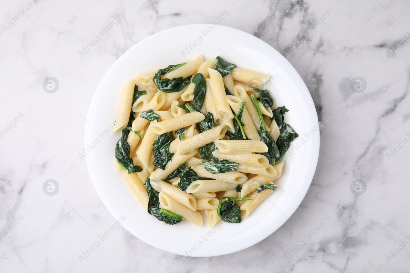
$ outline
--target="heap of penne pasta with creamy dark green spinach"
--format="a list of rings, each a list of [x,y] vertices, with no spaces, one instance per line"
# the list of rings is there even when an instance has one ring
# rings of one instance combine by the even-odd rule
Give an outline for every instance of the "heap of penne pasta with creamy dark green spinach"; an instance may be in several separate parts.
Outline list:
[[[149,214],[203,226],[205,210],[209,227],[240,223],[273,193],[298,134],[268,80],[198,55],[124,84],[115,164]]]

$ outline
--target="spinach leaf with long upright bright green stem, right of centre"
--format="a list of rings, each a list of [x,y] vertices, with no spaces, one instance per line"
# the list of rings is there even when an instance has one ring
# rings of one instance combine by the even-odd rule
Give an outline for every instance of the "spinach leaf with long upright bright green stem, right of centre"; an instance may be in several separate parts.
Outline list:
[[[268,147],[268,151],[266,153],[259,153],[261,155],[266,156],[266,158],[268,158],[269,162],[271,162],[271,164],[275,164],[276,162],[278,162],[280,160],[280,153],[279,153],[279,149],[276,146],[275,140],[273,140],[272,136],[266,131],[266,127],[265,127],[265,122],[263,120],[262,117],[262,113],[260,111],[259,105],[257,104],[256,101],[256,97],[255,95],[251,95],[252,101],[253,101],[253,105],[255,105],[256,107],[256,111],[258,113],[258,118],[259,118],[259,122],[260,122],[260,129],[258,130],[258,134],[260,136],[260,141],[262,141],[263,143],[266,144],[266,146]]]

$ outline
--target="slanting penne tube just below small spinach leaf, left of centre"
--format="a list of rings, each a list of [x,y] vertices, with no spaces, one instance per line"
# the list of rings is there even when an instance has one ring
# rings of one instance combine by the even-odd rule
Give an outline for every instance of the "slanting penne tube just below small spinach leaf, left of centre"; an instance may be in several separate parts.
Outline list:
[[[157,122],[155,124],[151,123],[150,127],[154,133],[161,135],[163,133],[168,133],[192,124],[196,124],[204,119],[205,116],[202,113],[191,112],[178,117],[173,117],[169,120]]]

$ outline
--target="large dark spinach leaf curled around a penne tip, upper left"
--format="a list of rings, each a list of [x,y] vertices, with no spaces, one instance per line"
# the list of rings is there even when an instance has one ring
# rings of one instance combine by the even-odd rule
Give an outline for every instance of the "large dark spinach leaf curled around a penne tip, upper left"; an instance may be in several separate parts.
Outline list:
[[[161,75],[165,75],[166,73],[171,72],[172,70],[175,70],[184,64],[185,63],[181,63],[179,65],[169,65],[164,69],[159,69],[153,78],[153,81],[155,82],[158,90],[166,93],[179,92],[184,89],[189,83],[191,83],[191,76],[185,79],[182,79],[182,77],[173,79],[161,79]]]

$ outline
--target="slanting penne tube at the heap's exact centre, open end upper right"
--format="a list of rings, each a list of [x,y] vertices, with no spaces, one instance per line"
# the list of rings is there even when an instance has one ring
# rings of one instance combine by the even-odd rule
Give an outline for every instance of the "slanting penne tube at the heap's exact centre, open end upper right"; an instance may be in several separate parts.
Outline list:
[[[205,144],[219,140],[225,136],[226,131],[227,128],[225,125],[219,125],[205,132],[199,133],[198,135],[194,135],[186,140],[182,140],[178,145],[177,154],[182,155],[184,153],[187,153],[188,151],[198,149]]]

